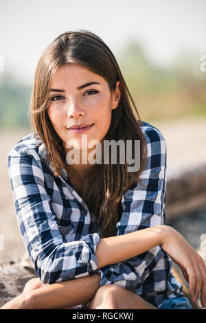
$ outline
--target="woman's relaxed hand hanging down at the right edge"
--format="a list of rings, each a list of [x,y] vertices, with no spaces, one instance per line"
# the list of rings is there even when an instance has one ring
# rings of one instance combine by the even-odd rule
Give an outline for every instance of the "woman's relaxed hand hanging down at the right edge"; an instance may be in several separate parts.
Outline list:
[[[162,249],[181,268],[183,277],[189,282],[193,302],[197,302],[201,293],[201,304],[206,307],[206,266],[203,258],[174,228],[168,225],[164,227]]]

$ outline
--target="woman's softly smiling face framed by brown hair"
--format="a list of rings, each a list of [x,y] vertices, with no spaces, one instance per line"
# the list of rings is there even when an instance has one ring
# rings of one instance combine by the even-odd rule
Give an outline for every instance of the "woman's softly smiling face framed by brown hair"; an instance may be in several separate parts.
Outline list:
[[[88,84],[93,82],[96,84]],[[88,143],[91,140],[101,142],[120,95],[119,81],[116,91],[111,93],[106,80],[89,69],[76,64],[59,67],[52,78],[47,112],[64,148],[69,140],[76,140],[81,149],[82,135],[87,135]],[[84,132],[69,129],[80,124],[92,126]]]

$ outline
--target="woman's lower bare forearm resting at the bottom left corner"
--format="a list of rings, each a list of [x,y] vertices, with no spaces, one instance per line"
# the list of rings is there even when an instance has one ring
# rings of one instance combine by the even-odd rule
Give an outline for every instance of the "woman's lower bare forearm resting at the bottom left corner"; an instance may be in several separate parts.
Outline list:
[[[100,274],[81,277],[35,289],[17,296],[1,309],[63,309],[86,304],[99,288]]]

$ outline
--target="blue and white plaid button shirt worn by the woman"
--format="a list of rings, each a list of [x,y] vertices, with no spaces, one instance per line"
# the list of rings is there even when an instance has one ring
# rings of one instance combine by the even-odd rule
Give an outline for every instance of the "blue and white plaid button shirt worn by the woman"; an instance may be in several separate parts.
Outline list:
[[[165,140],[148,122],[143,122],[141,129],[148,148],[147,164],[140,176],[144,188],[137,181],[122,196],[117,235],[165,223]],[[172,260],[159,245],[122,263],[97,269],[95,249],[100,232],[94,230],[94,215],[64,169],[55,177],[39,137],[38,142],[39,148],[31,133],[12,148],[8,173],[23,242],[43,285],[98,272],[100,287],[120,285],[156,307],[165,298],[183,296],[182,285],[172,276]],[[80,304],[74,308],[86,307]]]

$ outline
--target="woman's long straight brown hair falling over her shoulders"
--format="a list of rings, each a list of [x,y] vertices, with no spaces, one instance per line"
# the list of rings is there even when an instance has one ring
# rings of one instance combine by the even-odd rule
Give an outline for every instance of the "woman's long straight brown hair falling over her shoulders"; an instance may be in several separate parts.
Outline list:
[[[56,175],[65,167],[66,158],[62,140],[57,135],[47,114],[49,87],[52,76],[60,66],[75,63],[102,76],[109,89],[115,90],[120,80],[121,98],[116,109],[112,110],[111,125],[104,140],[140,140],[140,167],[137,172],[128,172],[125,164],[96,164],[84,184],[82,199],[93,212],[101,237],[115,236],[119,221],[119,201],[122,195],[133,186],[146,165],[146,139],[141,131],[142,120],[135,102],[111,50],[102,39],[87,30],[65,32],[58,36],[45,49],[34,78],[30,100],[30,115],[34,133],[38,133],[45,144],[49,159]],[[132,104],[133,108],[132,108]],[[135,116],[135,112],[137,115]],[[134,147],[133,147],[133,158]],[[119,159],[118,159],[119,160]],[[121,203],[121,202],[120,202]],[[120,212],[121,213],[121,212]]]

